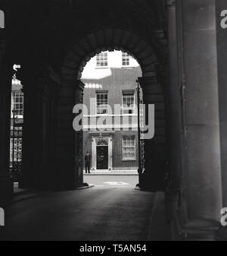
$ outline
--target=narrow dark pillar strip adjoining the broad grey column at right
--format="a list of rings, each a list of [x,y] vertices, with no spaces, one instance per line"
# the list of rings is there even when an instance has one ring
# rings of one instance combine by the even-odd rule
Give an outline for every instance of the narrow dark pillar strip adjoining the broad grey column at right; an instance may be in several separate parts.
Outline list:
[[[179,203],[182,186],[182,84],[179,82],[180,67],[178,65],[178,35],[176,31],[176,1],[168,0],[166,5],[169,46],[169,84],[166,88],[169,160],[168,178],[166,180],[167,216],[171,218]]]

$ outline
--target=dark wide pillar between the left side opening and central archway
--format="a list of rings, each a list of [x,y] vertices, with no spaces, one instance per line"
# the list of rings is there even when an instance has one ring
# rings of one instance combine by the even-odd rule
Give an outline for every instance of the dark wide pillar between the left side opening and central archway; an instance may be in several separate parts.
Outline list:
[[[36,73],[22,67],[23,84],[23,172],[20,188],[49,187],[48,161],[51,137],[51,79],[48,71],[36,67]]]

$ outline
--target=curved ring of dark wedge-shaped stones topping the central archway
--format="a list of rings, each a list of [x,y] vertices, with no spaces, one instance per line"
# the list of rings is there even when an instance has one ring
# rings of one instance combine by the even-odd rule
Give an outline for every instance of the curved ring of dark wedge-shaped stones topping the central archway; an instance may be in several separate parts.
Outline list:
[[[143,77],[153,77],[157,56],[151,43],[128,30],[103,29],[88,33],[75,43],[62,67],[64,80],[79,80],[87,62],[103,51],[121,50],[132,55],[141,66]]]

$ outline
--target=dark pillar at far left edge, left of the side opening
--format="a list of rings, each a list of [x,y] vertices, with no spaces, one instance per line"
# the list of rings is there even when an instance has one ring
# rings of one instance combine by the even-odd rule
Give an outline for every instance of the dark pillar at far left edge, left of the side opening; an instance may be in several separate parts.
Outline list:
[[[6,59],[6,41],[0,40],[0,206],[11,200],[14,191],[9,172],[12,67]]]

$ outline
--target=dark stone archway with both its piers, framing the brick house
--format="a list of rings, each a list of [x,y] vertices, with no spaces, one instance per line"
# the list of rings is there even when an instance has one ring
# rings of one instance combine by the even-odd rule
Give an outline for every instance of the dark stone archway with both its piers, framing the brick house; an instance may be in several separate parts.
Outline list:
[[[152,149],[152,156],[149,156],[148,150],[145,153],[145,165],[150,167],[153,165],[154,169],[147,168],[144,181],[145,186],[148,187],[151,185],[149,181],[152,179],[154,190],[162,186],[166,143],[165,104],[161,84],[157,81],[157,55],[151,47],[151,43],[147,43],[135,33],[119,29],[105,29],[95,30],[93,33],[87,34],[82,40],[74,44],[64,59],[62,88],[58,95],[58,121],[54,156],[58,160],[54,165],[54,182],[57,188],[70,189],[74,188],[75,185],[81,185],[83,182],[82,131],[75,132],[72,127],[75,117],[73,106],[76,103],[82,103],[83,84],[79,78],[90,58],[98,52],[113,51],[114,49],[128,52],[137,59],[143,75],[139,81],[146,95],[145,104],[157,104],[158,131],[154,140],[145,141],[145,149]]]

